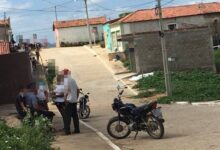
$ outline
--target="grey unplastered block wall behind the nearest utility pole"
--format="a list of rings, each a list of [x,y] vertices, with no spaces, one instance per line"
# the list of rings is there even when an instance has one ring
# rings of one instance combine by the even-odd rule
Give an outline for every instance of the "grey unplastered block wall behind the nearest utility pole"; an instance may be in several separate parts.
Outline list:
[[[170,70],[205,68],[215,71],[211,32],[208,28],[170,31],[165,35]],[[163,70],[160,37],[157,32],[133,39],[136,72]]]

